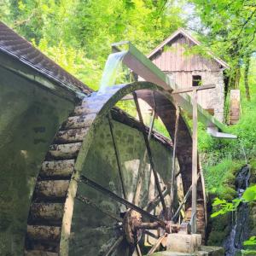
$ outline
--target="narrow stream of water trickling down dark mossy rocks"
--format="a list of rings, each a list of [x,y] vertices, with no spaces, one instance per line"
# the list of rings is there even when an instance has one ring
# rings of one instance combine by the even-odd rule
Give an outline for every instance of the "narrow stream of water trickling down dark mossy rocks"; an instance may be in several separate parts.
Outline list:
[[[236,191],[240,198],[249,185],[250,168],[244,166],[236,176]],[[243,241],[247,240],[249,209],[245,202],[241,202],[232,223],[230,235],[224,241],[225,255],[234,256],[242,248]]]

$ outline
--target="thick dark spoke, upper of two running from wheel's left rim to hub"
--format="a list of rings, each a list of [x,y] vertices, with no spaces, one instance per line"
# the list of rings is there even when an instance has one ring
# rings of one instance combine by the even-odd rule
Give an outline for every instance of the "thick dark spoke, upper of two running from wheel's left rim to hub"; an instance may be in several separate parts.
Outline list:
[[[160,220],[160,218],[155,217],[154,215],[144,211],[142,208],[137,207],[136,205],[132,204],[130,201],[125,200],[124,198],[120,197],[119,195],[114,194],[112,191],[105,189],[100,184],[90,180],[88,177],[81,175],[80,180],[81,183],[89,185],[91,188],[96,189],[97,191],[101,192],[103,195],[108,195],[113,200],[118,201],[119,203],[129,207],[136,212],[141,213],[144,217],[148,217],[149,219],[155,220],[159,222],[161,225],[166,226],[165,222]]]

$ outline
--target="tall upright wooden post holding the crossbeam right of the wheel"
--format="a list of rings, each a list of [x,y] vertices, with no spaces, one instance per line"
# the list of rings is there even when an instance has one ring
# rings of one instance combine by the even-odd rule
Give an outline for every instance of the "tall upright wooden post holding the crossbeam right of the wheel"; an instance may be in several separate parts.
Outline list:
[[[193,136],[192,136],[192,233],[196,233],[196,191],[197,191],[197,90],[193,90]]]

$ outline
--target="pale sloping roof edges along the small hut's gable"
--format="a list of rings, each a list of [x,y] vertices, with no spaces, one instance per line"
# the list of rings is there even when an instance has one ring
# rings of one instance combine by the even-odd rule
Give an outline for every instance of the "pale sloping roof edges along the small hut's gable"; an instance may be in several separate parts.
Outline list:
[[[193,38],[189,32],[184,30],[183,28],[179,28],[176,32],[173,32],[172,35],[169,38],[166,38],[161,44],[159,44],[156,48],[154,48],[151,53],[148,55],[148,59],[151,59],[160,49],[162,49],[166,44],[170,43],[174,38],[176,38],[178,35],[183,35],[185,38],[189,38],[190,41],[192,41],[196,45],[201,45],[199,41],[197,41],[195,38]],[[211,51],[207,51],[208,55],[212,57],[215,61],[217,61],[222,67],[229,68],[230,66],[223,60],[219,59]]]

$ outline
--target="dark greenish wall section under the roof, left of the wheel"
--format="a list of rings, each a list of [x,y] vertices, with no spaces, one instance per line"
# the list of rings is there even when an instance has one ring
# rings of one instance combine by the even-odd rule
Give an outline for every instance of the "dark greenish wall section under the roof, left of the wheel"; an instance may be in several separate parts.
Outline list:
[[[0,67],[0,255],[24,252],[41,162],[73,103]]]

